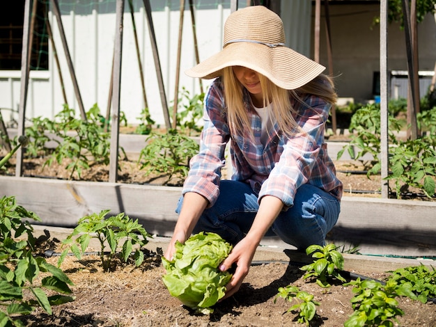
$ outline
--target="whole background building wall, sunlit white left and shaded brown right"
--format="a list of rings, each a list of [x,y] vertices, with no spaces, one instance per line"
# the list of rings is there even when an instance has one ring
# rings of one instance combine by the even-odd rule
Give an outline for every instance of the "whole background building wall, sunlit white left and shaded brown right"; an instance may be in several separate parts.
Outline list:
[[[189,1],[185,1],[182,26],[182,53],[180,62],[179,90],[187,88],[191,95],[199,92],[198,79],[187,77],[183,71],[195,65],[192,21]],[[200,60],[208,58],[221,49],[222,31],[226,17],[230,15],[230,0],[195,1],[196,35]],[[76,1],[61,0],[63,29],[70,56],[75,67],[79,90],[87,111],[98,104],[105,115],[109,103],[109,83],[114,51],[116,0]],[[139,53],[143,66],[148,108],[153,120],[164,125],[164,115],[157,85],[155,62],[150,45],[150,36],[143,1],[134,0],[134,19],[137,27]],[[175,97],[176,65],[180,1],[150,1],[153,23],[164,79],[166,101],[171,107]],[[247,1],[238,1],[240,8]],[[293,49],[313,58],[313,8],[312,1],[281,1],[281,17],[285,26],[287,44]],[[373,72],[379,70],[378,26],[373,26],[373,17],[379,15],[378,5],[332,5],[329,6],[332,24],[333,70],[340,97],[353,97],[356,101],[373,98]],[[323,11],[322,11],[323,13]],[[50,15],[56,51],[61,61],[61,74],[68,105],[79,106],[75,99],[70,72],[65,61],[59,28]],[[130,124],[137,124],[144,108],[137,50],[130,8],[125,1],[123,26],[123,61],[121,69],[120,110]],[[322,15],[320,62],[327,67],[325,47],[325,17]],[[404,33],[399,26],[389,26],[389,70],[407,70]],[[62,85],[50,47],[48,71],[31,71],[26,104],[26,118],[39,115],[53,118],[63,109]],[[419,69],[433,71],[436,61],[436,24],[431,15],[419,25]],[[328,72],[328,69],[326,70]],[[0,71],[0,108],[17,111],[20,103],[20,71]],[[207,88],[210,81],[203,81]],[[170,113],[171,113],[170,109]],[[17,113],[3,111],[6,121],[17,120]]]

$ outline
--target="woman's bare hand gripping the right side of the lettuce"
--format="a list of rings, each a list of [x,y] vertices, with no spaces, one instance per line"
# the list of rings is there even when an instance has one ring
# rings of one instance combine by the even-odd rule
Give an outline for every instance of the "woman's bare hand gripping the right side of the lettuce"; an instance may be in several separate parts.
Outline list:
[[[226,295],[222,298],[228,298],[238,292],[242,285],[242,281],[245,276],[247,276],[251,260],[253,260],[254,253],[256,252],[258,244],[256,242],[250,241],[245,237],[238,244],[235,245],[231,253],[226,257],[219,269],[221,271],[226,271],[231,268],[231,266],[235,263],[236,270],[233,273],[233,277],[230,282],[226,285]]]

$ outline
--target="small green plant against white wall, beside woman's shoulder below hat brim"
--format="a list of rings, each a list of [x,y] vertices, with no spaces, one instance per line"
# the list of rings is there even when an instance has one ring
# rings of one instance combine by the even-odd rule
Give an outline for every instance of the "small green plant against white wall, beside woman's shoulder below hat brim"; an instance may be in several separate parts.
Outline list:
[[[191,135],[191,131],[201,131],[203,127],[198,126],[198,122],[203,118],[204,93],[200,93],[191,97],[186,88],[182,88],[179,104],[183,110],[177,111],[177,125],[183,131],[187,131],[187,135]]]

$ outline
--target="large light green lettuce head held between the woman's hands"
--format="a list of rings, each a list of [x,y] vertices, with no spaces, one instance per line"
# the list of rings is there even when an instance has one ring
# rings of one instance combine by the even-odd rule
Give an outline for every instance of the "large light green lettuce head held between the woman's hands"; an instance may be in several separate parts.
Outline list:
[[[173,260],[162,257],[166,269],[162,280],[169,294],[197,312],[212,313],[210,307],[224,296],[232,278],[228,271],[218,269],[231,249],[215,233],[200,232],[189,237],[185,244],[176,242]]]

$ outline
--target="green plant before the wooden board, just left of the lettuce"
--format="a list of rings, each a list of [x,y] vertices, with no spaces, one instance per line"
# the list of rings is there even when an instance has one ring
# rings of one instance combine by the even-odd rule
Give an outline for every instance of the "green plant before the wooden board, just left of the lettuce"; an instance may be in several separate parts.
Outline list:
[[[136,266],[143,262],[142,248],[148,244],[148,238],[153,236],[138,223],[138,220],[132,221],[124,213],[105,219],[109,211],[102,210],[99,214],[91,214],[79,219],[76,228],[62,241],[63,246],[67,248],[61,253],[58,266],[62,264],[69,250],[80,260],[91,239],[98,239],[100,242],[100,260],[104,271],[111,269],[111,264],[120,248],[124,262],[127,262],[132,251],[134,251],[133,259]],[[79,234],[79,237],[74,238]],[[106,246],[109,246],[107,255],[104,253]]]

